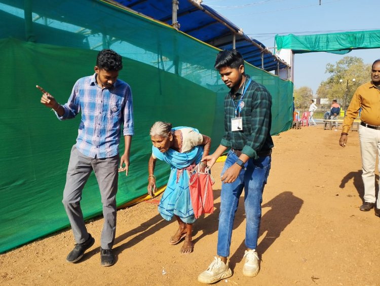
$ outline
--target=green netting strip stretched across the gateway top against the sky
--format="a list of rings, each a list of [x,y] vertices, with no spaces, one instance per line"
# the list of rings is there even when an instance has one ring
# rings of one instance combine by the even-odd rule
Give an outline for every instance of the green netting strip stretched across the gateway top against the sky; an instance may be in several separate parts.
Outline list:
[[[380,48],[380,30],[326,33],[314,35],[276,35],[278,50],[290,49],[295,54],[329,52],[347,54],[355,49]]]

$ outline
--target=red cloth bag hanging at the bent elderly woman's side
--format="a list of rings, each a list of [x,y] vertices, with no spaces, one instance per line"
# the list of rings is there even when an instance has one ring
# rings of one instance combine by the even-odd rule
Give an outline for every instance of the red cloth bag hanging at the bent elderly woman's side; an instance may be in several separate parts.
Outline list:
[[[201,168],[200,164],[195,167],[195,172],[190,176],[188,183],[196,219],[198,219],[202,213],[214,212],[212,185],[214,185],[215,181],[207,167],[205,167],[204,172],[200,171]]]

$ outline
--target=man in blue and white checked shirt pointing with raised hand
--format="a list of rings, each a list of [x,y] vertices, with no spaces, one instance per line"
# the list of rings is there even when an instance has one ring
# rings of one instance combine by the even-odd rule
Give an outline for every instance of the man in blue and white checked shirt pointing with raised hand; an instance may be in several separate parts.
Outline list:
[[[100,51],[94,68],[95,74],[79,79],[64,105],[37,86],[43,93],[41,103],[52,108],[59,120],[74,118],[80,112],[82,114],[77,143],[71,149],[62,200],[77,242],[66,258],[68,262],[79,261],[95,242],[87,232],[80,205],[82,190],[94,170],[104,216],[100,261],[102,266],[115,263],[112,246],[116,233],[118,172],[126,172],[128,175],[129,152],[134,133],[131,88],[118,79],[122,68],[122,57],[119,54],[108,49]],[[120,158],[122,125],[125,150]]]

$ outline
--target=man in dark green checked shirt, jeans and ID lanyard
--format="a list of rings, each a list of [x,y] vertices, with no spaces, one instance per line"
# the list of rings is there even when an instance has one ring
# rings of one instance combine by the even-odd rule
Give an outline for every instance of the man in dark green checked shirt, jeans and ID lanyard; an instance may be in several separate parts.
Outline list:
[[[217,256],[208,269],[198,276],[202,283],[214,283],[230,277],[227,258],[230,256],[232,230],[239,198],[244,188],[246,213],[246,251],[243,274],[253,277],[259,272],[256,252],[261,220],[264,185],[271,168],[273,140],[271,137],[272,96],[262,85],[244,73],[244,60],[236,50],[221,51],[215,68],[231,90],[224,98],[224,136],[219,147],[202,161],[208,167],[227,149],[221,172],[220,215]]]

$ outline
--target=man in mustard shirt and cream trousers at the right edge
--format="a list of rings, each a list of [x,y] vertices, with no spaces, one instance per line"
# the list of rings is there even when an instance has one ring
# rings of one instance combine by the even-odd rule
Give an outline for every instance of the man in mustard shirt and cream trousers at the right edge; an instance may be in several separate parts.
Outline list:
[[[339,139],[341,147],[346,146],[348,131],[360,108],[359,141],[364,183],[364,203],[360,210],[369,211],[376,203],[375,215],[380,217],[380,195],[377,195],[377,202],[375,197],[376,154],[380,154],[380,59],[372,64],[371,81],[359,86],[352,97]]]

